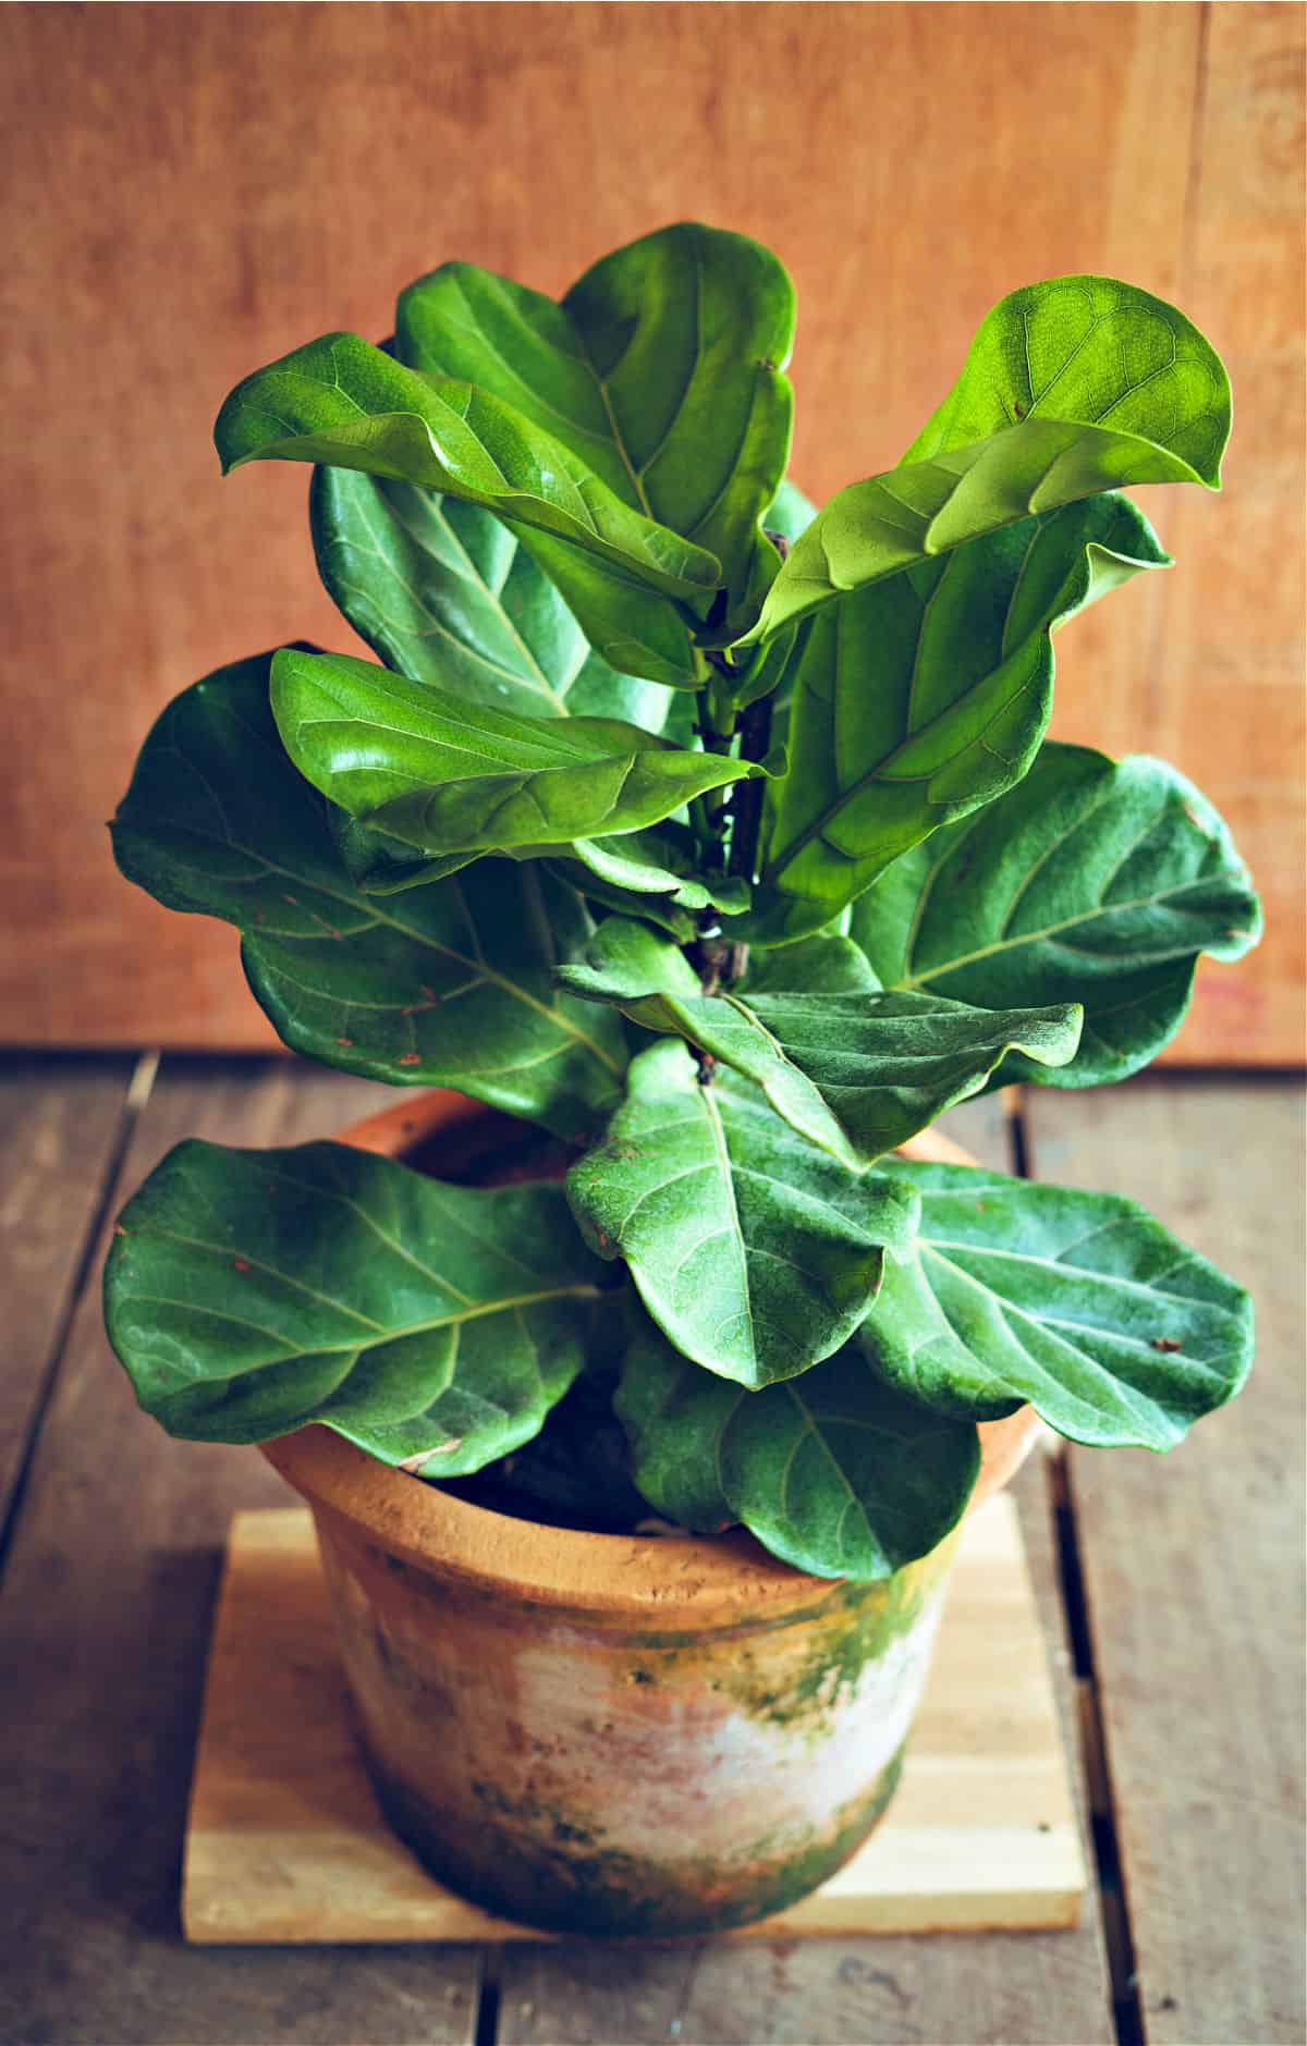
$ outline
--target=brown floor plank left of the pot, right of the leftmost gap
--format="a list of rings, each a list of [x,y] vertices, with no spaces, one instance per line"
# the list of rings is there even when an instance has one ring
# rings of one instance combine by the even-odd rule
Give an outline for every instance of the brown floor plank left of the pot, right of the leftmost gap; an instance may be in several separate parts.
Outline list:
[[[168,1064],[125,1183],[202,1133],[323,1136],[382,1088],[284,1062]],[[0,2036],[57,2046],[466,2046],[468,1948],[223,1956],[182,1946],[178,1870],[211,1602],[233,1508],[286,1492],[170,1442],[78,1309],[0,1596]]]

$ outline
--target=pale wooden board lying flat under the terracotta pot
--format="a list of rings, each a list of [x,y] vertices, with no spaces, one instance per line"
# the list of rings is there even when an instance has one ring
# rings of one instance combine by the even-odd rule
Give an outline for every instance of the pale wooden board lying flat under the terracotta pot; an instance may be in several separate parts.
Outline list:
[[[1062,1927],[1086,1864],[1017,1510],[967,1522],[914,1758],[886,1821],[814,1897],[732,1938]],[[196,1942],[534,1940],[434,1882],[358,1753],[307,1508],[227,1545],[182,1893]]]

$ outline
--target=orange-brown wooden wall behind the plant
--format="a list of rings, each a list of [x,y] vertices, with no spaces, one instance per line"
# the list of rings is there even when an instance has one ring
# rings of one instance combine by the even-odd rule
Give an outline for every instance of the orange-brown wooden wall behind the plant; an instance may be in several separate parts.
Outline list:
[[[1105,270],[1231,364],[1221,499],[1060,642],[1055,730],[1231,818],[1270,937],[1188,1062],[1303,1052],[1303,10],[1291,4],[4,6],[8,581],[0,1037],[256,1046],[235,937],[123,884],[102,820],[162,704],[292,636],[305,475],[221,483],[227,387],[389,327],[464,256],[560,291],[697,215],[800,286],[796,475],[888,466],[1015,284]],[[1152,493],[1158,495],[1158,493]]]

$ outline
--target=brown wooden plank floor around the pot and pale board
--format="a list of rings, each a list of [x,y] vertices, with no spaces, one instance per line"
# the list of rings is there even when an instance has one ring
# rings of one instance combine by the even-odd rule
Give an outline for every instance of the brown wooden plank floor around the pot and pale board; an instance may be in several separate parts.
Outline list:
[[[1168,1461],[1019,1498],[1100,1882],[1074,1933],[198,1950],[178,1858],[221,1541],[278,1504],[168,1442],[110,1361],[110,1215],[186,1133],[323,1136],[389,1091],[284,1060],[10,1060],[0,1285],[6,2046],[1278,2046],[1301,1991],[1301,1086],[1139,1080],[949,1119],[990,1164],[1129,1189],[1254,1285],[1260,1381]],[[1086,1766],[1088,1764],[1088,1766]]]

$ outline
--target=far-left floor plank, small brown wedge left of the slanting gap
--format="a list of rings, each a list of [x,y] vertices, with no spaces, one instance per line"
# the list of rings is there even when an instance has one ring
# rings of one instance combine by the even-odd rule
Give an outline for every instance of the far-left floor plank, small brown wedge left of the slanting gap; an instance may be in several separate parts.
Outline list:
[[[0,1064],[0,1524],[127,1113],[129,1058]]]

